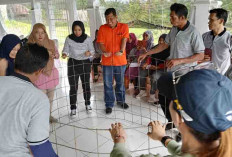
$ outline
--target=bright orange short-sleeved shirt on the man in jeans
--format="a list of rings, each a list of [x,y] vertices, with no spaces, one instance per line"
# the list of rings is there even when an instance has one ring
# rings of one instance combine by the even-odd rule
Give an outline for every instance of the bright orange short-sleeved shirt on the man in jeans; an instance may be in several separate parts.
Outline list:
[[[123,38],[129,38],[129,28],[127,24],[118,22],[115,28],[111,28],[107,24],[99,28],[97,42],[104,44],[106,52],[112,53],[110,57],[102,55],[102,65],[122,66],[127,64],[125,50],[121,56],[115,55],[116,52],[121,50]]]

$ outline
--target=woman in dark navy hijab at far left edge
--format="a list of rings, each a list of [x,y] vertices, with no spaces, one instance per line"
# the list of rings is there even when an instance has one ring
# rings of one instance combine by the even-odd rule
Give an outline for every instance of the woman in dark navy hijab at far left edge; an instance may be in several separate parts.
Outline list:
[[[9,76],[14,72],[14,59],[19,49],[20,39],[18,36],[8,34],[2,38],[0,44],[0,76]]]

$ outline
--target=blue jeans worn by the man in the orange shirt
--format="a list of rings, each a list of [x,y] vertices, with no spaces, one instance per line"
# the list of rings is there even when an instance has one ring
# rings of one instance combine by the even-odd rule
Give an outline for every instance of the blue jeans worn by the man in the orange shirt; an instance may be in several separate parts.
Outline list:
[[[123,66],[103,66],[103,80],[104,80],[104,100],[106,108],[114,107],[116,101],[118,103],[125,102],[125,87],[124,87],[124,74],[126,65]],[[115,94],[113,89],[113,78],[116,81]]]

